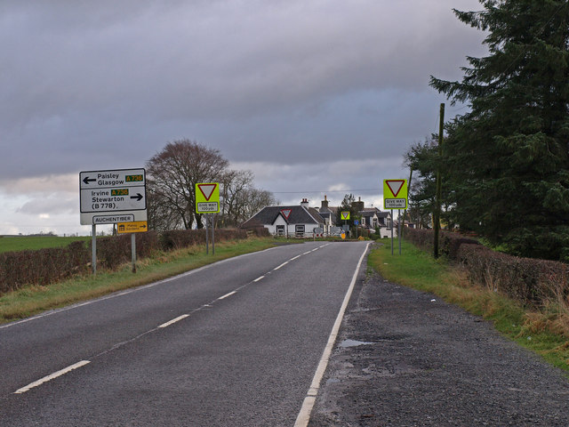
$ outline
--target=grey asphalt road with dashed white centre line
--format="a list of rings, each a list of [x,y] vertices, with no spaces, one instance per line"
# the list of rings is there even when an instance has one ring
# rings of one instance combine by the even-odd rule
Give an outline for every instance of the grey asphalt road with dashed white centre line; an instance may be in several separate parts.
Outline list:
[[[280,246],[0,326],[0,425],[293,425],[366,247]]]

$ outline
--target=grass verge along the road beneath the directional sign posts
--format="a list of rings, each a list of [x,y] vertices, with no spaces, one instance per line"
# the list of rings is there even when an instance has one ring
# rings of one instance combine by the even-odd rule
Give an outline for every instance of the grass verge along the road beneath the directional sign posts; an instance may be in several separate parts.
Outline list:
[[[228,241],[215,245],[215,255],[212,254],[211,248],[210,254],[205,254],[204,246],[190,246],[140,260],[137,262],[135,274],[132,273],[132,264],[129,263],[120,270],[100,271],[94,277],[80,276],[50,286],[25,286],[0,296],[0,324],[129,287],[146,285],[213,262],[261,251],[275,245],[276,242],[272,238]]]

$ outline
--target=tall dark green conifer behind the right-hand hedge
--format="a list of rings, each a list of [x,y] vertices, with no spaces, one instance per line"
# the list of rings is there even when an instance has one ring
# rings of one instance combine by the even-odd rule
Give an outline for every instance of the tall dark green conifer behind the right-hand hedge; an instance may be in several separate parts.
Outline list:
[[[569,2],[480,0],[487,32],[461,81],[430,85],[470,112],[447,125],[453,220],[510,253],[569,261]],[[565,248],[565,249],[564,249]]]

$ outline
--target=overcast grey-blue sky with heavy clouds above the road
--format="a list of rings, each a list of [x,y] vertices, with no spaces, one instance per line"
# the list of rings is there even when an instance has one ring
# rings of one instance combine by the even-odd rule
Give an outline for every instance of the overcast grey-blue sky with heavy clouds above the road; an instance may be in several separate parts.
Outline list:
[[[88,235],[81,171],[143,167],[169,141],[219,149],[283,204],[382,180],[437,131],[484,35],[477,0],[0,0],[0,234]],[[447,102],[446,118],[464,113]]]

